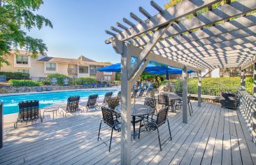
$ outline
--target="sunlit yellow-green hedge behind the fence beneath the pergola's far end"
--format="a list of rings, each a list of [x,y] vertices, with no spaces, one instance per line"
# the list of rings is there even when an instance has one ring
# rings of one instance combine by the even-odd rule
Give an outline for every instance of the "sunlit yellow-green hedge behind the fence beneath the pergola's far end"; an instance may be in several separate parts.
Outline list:
[[[240,87],[240,78],[202,78],[201,91],[202,94],[211,96],[220,96],[222,91],[237,92]],[[182,91],[182,80],[176,80],[175,90]],[[197,78],[190,78],[187,81],[187,90],[190,94],[197,94]],[[253,78],[246,78],[246,91],[253,94]]]

